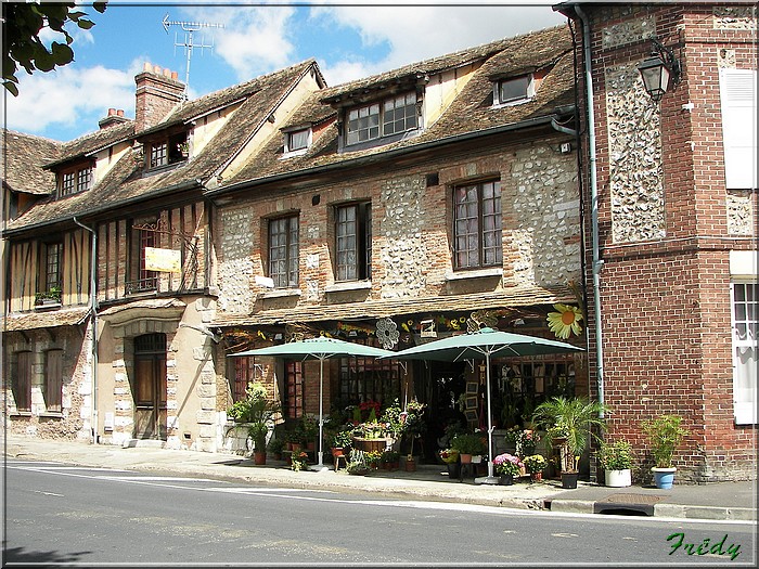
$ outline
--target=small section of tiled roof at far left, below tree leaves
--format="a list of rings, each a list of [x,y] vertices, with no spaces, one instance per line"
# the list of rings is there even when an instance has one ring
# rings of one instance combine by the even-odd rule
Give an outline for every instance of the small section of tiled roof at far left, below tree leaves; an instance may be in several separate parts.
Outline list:
[[[15,192],[44,195],[55,189],[55,177],[42,166],[61,156],[63,143],[3,129],[0,137],[2,181]]]

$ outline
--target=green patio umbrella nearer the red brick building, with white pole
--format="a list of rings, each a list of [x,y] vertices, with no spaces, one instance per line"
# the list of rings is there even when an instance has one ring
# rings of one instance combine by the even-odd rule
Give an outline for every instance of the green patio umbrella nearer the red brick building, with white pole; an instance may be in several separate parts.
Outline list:
[[[524,334],[512,334],[493,328],[481,328],[468,334],[450,336],[429,341],[413,348],[395,352],[396,360],[437,360],[456,362],[460,360],[485,360],[488,393],[488,476],[478,479],[484,483],[498,483],[493,476],[492,418],[490,416],[490,358],[507,355],[538,355],[543,353],[566,353],[583,351],[571,344],[549,340]]]

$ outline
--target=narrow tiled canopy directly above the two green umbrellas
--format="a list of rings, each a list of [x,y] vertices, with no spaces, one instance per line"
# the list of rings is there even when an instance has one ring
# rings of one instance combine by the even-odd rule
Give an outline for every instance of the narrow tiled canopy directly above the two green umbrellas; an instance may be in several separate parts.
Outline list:
[[[509,307],[577,302],[569,288],[515,286],[491,293],[363,300],[334,305],[305,305],[294,308],[260,310],[254,314],[218,314],[214,327],[261,326],[272,324],[322,322],[330,320],[381,319],[398,314],[447,311],[474,311]]]

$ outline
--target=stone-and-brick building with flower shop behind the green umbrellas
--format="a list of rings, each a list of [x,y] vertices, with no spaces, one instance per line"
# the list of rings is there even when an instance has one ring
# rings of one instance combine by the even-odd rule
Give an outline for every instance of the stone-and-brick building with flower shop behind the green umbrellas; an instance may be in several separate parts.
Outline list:
[[[574,103],[566,26],[312,93],[205,193],[220,346],[325,334],[397,350],[484,324],[553,337],[548,312],[582,301]],[[588,391],[584,353],[493,365],[499,427]],[[318,362],[228,359],[237,392],[276,377],[287,419],[317,412],[318,374]],[[428,460],[447,422],[487,424],[483,366],[327,360],[325,376],[327,413],[426,403]]]

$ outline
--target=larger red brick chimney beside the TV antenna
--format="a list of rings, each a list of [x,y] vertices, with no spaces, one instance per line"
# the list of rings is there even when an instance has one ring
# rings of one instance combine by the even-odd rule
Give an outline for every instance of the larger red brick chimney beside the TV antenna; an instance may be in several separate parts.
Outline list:
[[[177,72],[145,63],[134,82],[134,132],[160,122],[183,99],[184,83],[177,79]]]

